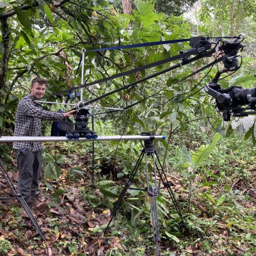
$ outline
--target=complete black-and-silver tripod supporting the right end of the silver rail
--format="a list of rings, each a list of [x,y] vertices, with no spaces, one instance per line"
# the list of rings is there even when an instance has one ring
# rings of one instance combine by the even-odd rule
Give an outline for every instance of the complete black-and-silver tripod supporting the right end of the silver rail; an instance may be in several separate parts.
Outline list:
[[[167,188],[168,193],[172,199],[173,205],[175,206],[175,209],[177,213],[180,216],[180,219],[182,220],[182,224],[184,227],[187,228],[186,223],[184,221],[184,218],[182,216],[182,213],[180,211],[180,207],[177,203],[177,200],[173,194],[170,182],[168,182],[166,173],[164,173],[163,166],[161,165],[159,161],[159,157],[157,156],[156,150],[154,149],[154,134],[143,132],[141,135],[150,135],[149,140],[144,141],[144,148],[141,150],[140,157],[138,158],[138,161],[136,162],[134,169],[132,170],[131,175],[129,176],[129,180],[125,182],[125,186],[118,197],[118,200],[113,208],[113,211],[110,216],[110,220],[108,222],[108,225],[106,229],[104,230],[104,235],[106,235],[106,232],[108,231],[109,225],[111,224],[111,221],[113,218],[115,218],[116,211],[119,209],[120,204],[122,202],[122,199],[124,198],[124,195],[127,191],[127,189],[136,189],[136,190],[142,190],[147,191],[147,195],[150,198],[150,219],[151,219],[151,225],[152,225],[152,232],[153,232],[153,241],[156,242],[156,255],[159,255],[159,242],[160,242],[160,228],[159,228],[159,221],[158,221],[158,211],[157,211],[157,196],[158,196],[158,190]],[[146,164],[146,177],[147,177],[147,187],[144,189],[138,189],[138,188],[130,188],[132,180],[134,179],[136,173],[138,172],[138,168],[141,164],[141,161],[143,157],[145,156],[145,164]],[[153,186],[150,186],[150,177],[148,175],[148,156],[151,156],[153,159]],[[156,161],[157,160],[157,161]],[[156,172],[157,170],[157,172]],[[157,173],[159,174],[159,177],[161,179],[161,182],[163,183],[163,187],[158,188],[157,186]],[[161,174],[163,173],[163,175]],[[163,177],[164,176],[164,177]]]

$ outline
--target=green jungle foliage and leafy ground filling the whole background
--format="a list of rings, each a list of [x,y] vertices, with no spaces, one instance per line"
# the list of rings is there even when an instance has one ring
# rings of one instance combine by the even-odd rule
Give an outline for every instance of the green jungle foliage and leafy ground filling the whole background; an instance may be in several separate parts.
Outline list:
[[[193,4],[194,1],[186,1]],[[116,1],[19,0],[0,2],[0,132],[12,135],[17,103],[29,92],[33,76],[49,81],[47,95],[81,84],[79,60],[85,50],[84,81],[90,83],[119,72],[163,60],[189,49],[188,43],[93,52],[113,45],[190,38],[195,29],[205,36],[245,33],[247,47],[241,69],[221,80],[221,86],[255,83],[254,1],[200,1],[193,12],[196,23],[184,16],[179,4],[169,13],[159,1],[132,2],[132,13],[122,13]],[[158,5],[160,6],[160,4]],[[170,10],[170,7],[168,7]],[[177,10],[177,11],[176,11]],[[170,15],[172,14],[172,15]],[[213,18],[213,19],[212,19]],[[248,22],[250,21],[250,22]],[[211,99],[202,90],[218,68],[208,68],[186,81],[180,79],[213,61],[204,58],[140,83],[97,102],[98,106],[124,108],[123,112],[95,117],[101,135],[166,134],[157,141],[157,154],[178,198],[188,230],[182,227],[166,191],[159,191],[161,255],[254,255],[255,253],[255,119],[253,116],[223,124]],[[125,84],[170,67],[150,70],[99,83],[84,89],[84,100],[94,99]],[[64,102],[66,95],[51,97]],[[45,106],[51,110],[58,107]],[[246,120],[243,122],[243,120]],[[238,122],[236,122],[238,121]],[[44,124],[49,135],[51,124]],[[90,126],[90,125],[89,125]],[[216,132],[217,131],[217,132]],[[19,204],[1,203],[0,253],[3,255],[154,255],[150,233],[149,198],[143,191],[129,190],[121,205],[109,239],[102,230],[109,211],[122,191],[124,179],[143,145],[134,141],[97,142],[95,186],[92,180],[92,147],[88,143],[46,143],[44,150],[44,196],[35,214],[47,241],[42,243]],[[13,180],[15,154],[0,145],[1,156]],[[143,166],[143,163],[141,165]],[[148,165],[152,170],[152,165]],[[143,167],[134,185],[145,184]],[[4,184],[4,179],[0,179]],[[10,189],[9,189],[10,190]],[[5,194],[9,194],[4,187]],[[109,210],[110,209],[110,210]],[[24,239],[28,242],[24,243]],[[18,254],[19,253],[19,254]],[[30,253],[30,254],[29,254]]]

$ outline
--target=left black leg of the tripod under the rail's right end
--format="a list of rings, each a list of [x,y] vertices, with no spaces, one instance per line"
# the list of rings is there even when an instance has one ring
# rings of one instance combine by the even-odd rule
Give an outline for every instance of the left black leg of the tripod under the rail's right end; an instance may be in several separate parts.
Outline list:
[[[124,195],[125,195],[127,189],[131,186],[131,182],[134,179],[134,176],[135,176],[136,172],[138,171],[138,168],[140,166],[140,163],[141,163],[141,161],[143,159],[144,154],[145,154],[144,150],[141,151],[140,157],[138,158],[138,161],[135,164],[134,169],[132,170],[132,173],[131,173],[131,175],[129,177],[129,180],[127,180],[127,182],[125,182],[125,186],[124,186],[120,196],[118,197],[118,200],[117,200],[117,202],[116,202],[116,204],[115,204],[115,206],[113,208],[113,211],[111,212],[110,220],[108,222],[107,227],[104,230],[104,236],[106,235],[106,232],[108,231],[108,228],[109,228],[109,225],[111,224],[111,221],[113,220],[113,218],[115,218],[116,211],[119,209],[119,206],[120,206],[120,204],[121,204],[121,202],[122,202],[122,200],[124,198]]]

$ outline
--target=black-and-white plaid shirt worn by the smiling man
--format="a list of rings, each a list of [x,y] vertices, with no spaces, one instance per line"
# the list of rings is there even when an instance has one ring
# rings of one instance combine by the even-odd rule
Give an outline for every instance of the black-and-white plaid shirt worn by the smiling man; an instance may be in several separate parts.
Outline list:
[[[20,100],[15,117],[14,136],[41,136],[41,120],[63,120],[63,113],[51,112],[42,109],[41,106],[33,102],[33,97],[29,93]],[[42,150],[41,142],[14,142],[13,148],[26,148],[29,151]]]

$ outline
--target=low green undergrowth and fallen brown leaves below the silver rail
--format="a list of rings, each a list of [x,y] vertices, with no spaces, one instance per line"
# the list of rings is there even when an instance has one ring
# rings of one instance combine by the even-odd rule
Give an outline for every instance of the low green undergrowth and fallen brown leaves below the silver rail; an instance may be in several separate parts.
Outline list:
[[[209,143],[208,139],[198,135],[200,144]],[[110,211],[141,150],[140,143],[112,144],[120,150],[106,152],[106,143],[97,143],[94,186],[90,144],[63,143],[61,147],[47,144],[42,180],[44,198],[40,202],[47,205],[40,212],[33,210],[47,240],[42,243],[36,236],[33,225],[20,213],[23,209],[19,204],[3,203],[2,255],[156,255],[150,196],[145,191],[127,189],[114,221],[102,236]],[[164,171],[172,182],[187,228],[166,189],[160,189],[157,196],[160,255],[255,255],[256,166],[252,142],[237,140],[235,136],[220,141],[196,170],[190,211],[190,177],[183,145],[173,141],[170,146]],[[164,147],[161,147],[162,156]],[[189,151],[193,154],[196,148]],[[112,165],[106,164],[109,162]],[[113,163],[117,175],[113,175]],[[15,170],[12,162],[8,166]],[[50,172],[51,169],[54,171]],[[152,163],[148,163],[148,170],[152,171]],[[9,173],[12,179],[17,179],[17,173]],[[131,186],[146,185],[143,159]],[[7,187],[4,191],[10,193]],[[28,243],[22,242],[24,239]]]

